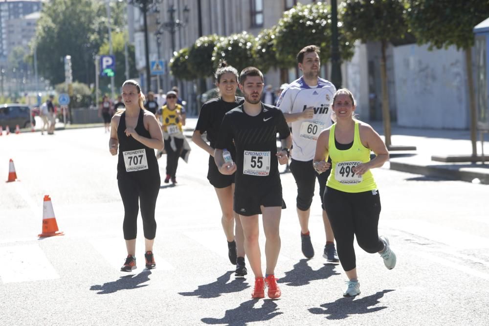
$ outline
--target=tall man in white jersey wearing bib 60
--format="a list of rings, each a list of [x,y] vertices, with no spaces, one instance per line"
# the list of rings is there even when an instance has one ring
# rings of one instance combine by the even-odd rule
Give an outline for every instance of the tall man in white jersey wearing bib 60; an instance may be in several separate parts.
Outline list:
[[[312,168],[317,137],[321,130],[331,126],[330,106],[336,88],[329,81],[319,78],[321,63],[317,46],[309,45],[301,49],[297,54],[297,65],[302,70],[302,76],[284,89],[278,100],[278,107],[292,126],[290,172],[297,184],[297,216],[301,227],[301,249],[306,258],[314,257],[309,217],[317,179],[326,234],[323,257],[329,262],[338,262],[334,235],[323,202],[329,170],[317,174]]]

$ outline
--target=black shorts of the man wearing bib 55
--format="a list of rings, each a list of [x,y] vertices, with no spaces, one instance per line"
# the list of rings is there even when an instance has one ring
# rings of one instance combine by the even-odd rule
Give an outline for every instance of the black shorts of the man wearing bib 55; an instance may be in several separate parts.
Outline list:
[[[248,191],[242,194],[234,194],[234,212],[243,216],[252,216],[262,214],[260,208],[264,207],[282,207],[287,208],[282,199],[282,186],[270,187],[267,190],[272,191]]]

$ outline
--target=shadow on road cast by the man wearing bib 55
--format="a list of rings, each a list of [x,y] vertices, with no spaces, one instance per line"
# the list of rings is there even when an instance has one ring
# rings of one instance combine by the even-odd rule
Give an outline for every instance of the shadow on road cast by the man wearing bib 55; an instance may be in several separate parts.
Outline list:
[[[260,308],[253,306],[257,302],[263,302]],[[229,326],[245,326],[246,323],[261,322],[272,319],[275,316],[283,314],[278,312],[277,304],[273,300],[259,301],[252,299],[240,304],[239,307],[226,310],[224,317],[217,318],[202,318],[201,321],[208,325],[227,324]]]

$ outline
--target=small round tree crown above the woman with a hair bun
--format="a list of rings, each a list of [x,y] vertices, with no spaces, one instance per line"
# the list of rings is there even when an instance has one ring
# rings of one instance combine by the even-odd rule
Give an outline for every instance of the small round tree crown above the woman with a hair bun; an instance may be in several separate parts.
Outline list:
[[[225,60],[229,65],[235,67],[238,72],[247,66],[255,65],[256,61],[253,57],[254,46],[255,38],[247,32],[232,34],[222,38],[216,43],[212,53],[214,69],[217,68],[220,60]]]

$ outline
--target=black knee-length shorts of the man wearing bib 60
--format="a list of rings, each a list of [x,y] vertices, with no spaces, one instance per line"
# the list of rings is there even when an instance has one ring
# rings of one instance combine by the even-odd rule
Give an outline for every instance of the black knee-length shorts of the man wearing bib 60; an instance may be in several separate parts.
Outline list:
[[[331,162],[328,159],[328,162]],[[321,208],[324,210],[324,189],[326,189],[326,181],[331,174],[331,169],[326,170],[322,174],[314,171],[311,161],[297,161],[292,159],[290,162],[290,172],[294,176],[297,184],[297,208],[301,211],[307,211],[311,207],[312,197],[314,196],[314,187],[316,178],[319,181],[319,197],[321,198]]]

